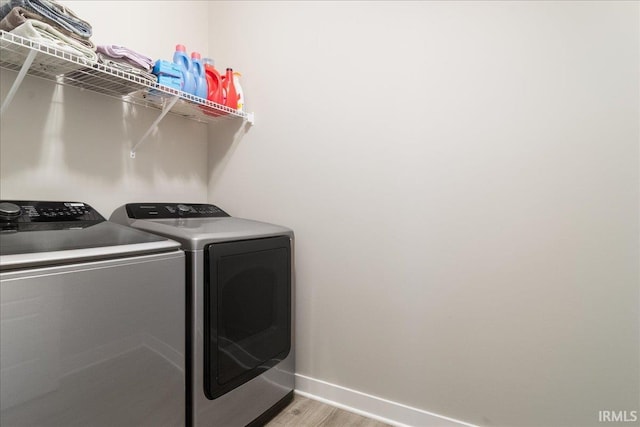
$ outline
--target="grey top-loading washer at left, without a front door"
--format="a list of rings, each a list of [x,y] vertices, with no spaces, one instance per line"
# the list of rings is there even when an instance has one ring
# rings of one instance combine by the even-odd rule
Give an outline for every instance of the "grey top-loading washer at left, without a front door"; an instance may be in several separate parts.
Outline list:
[[[184,426],[184,258],[86,203],[0,201],[0,425]]]

